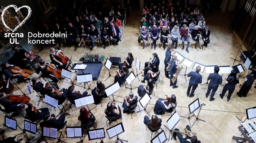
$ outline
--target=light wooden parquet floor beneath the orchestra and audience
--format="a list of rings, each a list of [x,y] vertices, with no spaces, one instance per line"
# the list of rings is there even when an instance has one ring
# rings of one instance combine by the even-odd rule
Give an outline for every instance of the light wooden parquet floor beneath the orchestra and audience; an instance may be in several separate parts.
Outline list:
[[[224,99],[221,99],[219,97],[219,94],[221,93],[223,87],[219,86],[218,90],[216,91],[215,94],[215,100],[212,102],[209,102],[209,97],[206,99],[205,94],[207,91],[207,85],[199,85],[199,87],[195,90],[195,96],[192,98],[189,98],[186,96],[186,91],[188,87],[188,82],[185,81],[185,77],[180,75],[178,76],[178,83],[179,87],[177,89],[172,89],[169,87],[170,80],[164,77],[164,57],[165,57],[165,51],[163,50],[163,46],[160,48],[157,46],[156,50],[150,49],[150,48],[145,48],[142,49],[142,46],[139,46],[137,43],[138,39],[138,30],[140,27],[140,16],[132,16],[132,15],[141,15],[140,12],[138,11],[132,11],[130,13],[130,17],[127,18],[126,24],[125,24],[125,30],[123,31],[123,37],[121,41],[121,45],[118,46],[107,46],[106,49],[103,49],[103,46],[96,46],[92,51],[89,50],[89,48],[84,49],[82,46],[75,48],[74,46],[72,47],[66,47],[62,46],[62,51],[66,56],[71,56],[73,55],[73,63],[79,63],[79,59],[83,56],[83,54],[87,51],[90,53],[100,53],[106,58],[109,58],[111,56],[114,57],[121,57],[122,61],[124,58],[127,56],[128,52],[131,52],[134,56],[134,58],[138,58],[138,60],[141,62],[141,65],[144,66],[144,62],[149,61],[149,58],[152,57],[152,53],[157,53],[159,58],[160,58],[160,83],[157,82],[157,89],[155,88],[154,92],[156,96],[152,96],[151,104],[154,104],[156,102],[155,99],[158,98],[164,98],[164,95],[171,95],[175,94],[178,102],[178,107],[176,107],[176,111],[178,112],[179,115],[188,117],[189,116],[189,109],[188,105],[194,101],[195,99],[199,98],[200,103],[206,104],[206,106],[202,107],[202,110],[200,112],[200,119],[205,120],[206,122],[203,121],[197,121],[195,122],[194,126],[191,128],[192,131],[197,133],[198,139],[202,143],[234,143],[234,140],[232,140],[232,136],[240,136],[240,131],[238,130],[238,126],[240,125],[239,120],[236,118],[239,117],[240,119],[245,119],[246,118],[246,109],[249,107],[254,107],[256,98],[255,98],[255,92],[256,89],[253,87],[251,88],[249,94],[247,97],[240,98],[238,97],[235,93],[239,91],[240,87],[236,87],[231,99],[229,102],[227,102],[226,97],[227,94],[225,95]],[[201,49],[195,49],[194,44],[192,44],[192,48],[189,48],[189,53],[187,53],[184,50],[182,50],[180,47],[176,49],[179,53],[183,54],[183,56],[189,58],[190,60],[194,62],[201,63],[203,65],[218,65],[218,66],[233,66],[234,60],[231,58],[235,58],[239,48],[239,43],[237,43],[234,35],[232,34],[231,29],[229,27],[230,21],[233,19],[234,14],[230,12],[214,12],[205,14],[204,15],[206,19],[206,25],[210,27],[211,29],[211,43],[209,44],[208,48],[204,48],[203,50]],[[107,44],[108,45],[108,44]],[[57,46],[56,46],[57,48]],[[243,47],[244,48],[244,47]],[[49,49],[45,48],[42,51],[40,51],[40,48],[35,47],[32,49],[34,54],[39,54],[43,60],[45,61],[50,61],[49,58]],[[231,58],[230,58],[231,57]],[[238,56],[238,58],[239,56]],[[105,61],[104,61],[105,62]],[[235,65],[239,64],[239,61],[235,62]],[[185,68],[185,66],[183,65]],[[138,73],[143,72],[142,69],[144,67],[141,67],[141,70],[138,71]],[[135,67],[135,61],[133,61],[133,69],[135,70],[136,73],[136,67]],[[187,68],[187,72],[189,73],[190,71],[194,71],[191,67]],[[114,68],[110,70],[112,75],[116,75],[116,72]],[[244,77],[249,71],[243,72],[242,76]],[[185,73],[185,69],[182,70],[181,74]],[[206,83],[207,77],[209,74],[204,71],[202,74],[202,83]],[[141,84],[140,80],[143,79],[143,77],[140,74],[138,78],[135,79],[135,81],[132,83],[132,87],[137,87]],[[38,76],[35,73],[33,76]],[[105,83],[106,86],[112,84],[114,82],[114,77],[110,77],[106,81],[104,81],[107,77],[109,76],[108,70],[103,66],[102,71],[99,76],[99,80]],[[223,85],[225,84],[225,78],[227,78],[228,74],[223,75]],[[75,73],[73,73],[73,80],[75,78]],[[187,78],[189,79],[189,78]],[[239,78],[240,83],[244,83],[244,78]],[[60,87],[67,88],[71,84],[69,84],[69,80],[65,82],[62,85],[62,83],[58,83]],[[26,92],[26,84],[22,83],[19,87],[22,87],[22,90]],[[95,83],[92,83],[91,88],[95,87]],[[80,90],[81,92],[84,91],[82,87],[76,86],[77,90]],[[132,90],[135,95],[137,95],[137,89]],[[89,90],[89,94],[90,94]],[[125,94],[128,95],[130,92],[130,89],[125,89],[125,86],[122,85],[121,88],[119,89],[118,92],[115,93],[115,95],[125,97]],[[19,90],[17,90],[13,94],[21,94]],[[32,94],[29,95],[32,99],[33,104],[37,104],[38,98],[35,97],[36,93],[33,92]],[[121,97],[116,97],[115,99],[118,101],[123,101],[123,98]],[[104,114],[104,109],[107,106],[108,102],[112,102],[112,96],[111,100],[108,98],[102,100],[102,105],[97,105],[95,109],[92,110],[92,113],[95,115],[98,123],[96,124],[97,128],[105,128],[107,129],[106,126],[106,118]],[[65,102],[65,105],[70,104],[69,102]],[[121,103],[117,103],[120,107],[122,106]],[[95,105],[89,105],[89,108],[93,108]],[[49,107],[49,110],[51,113],[58,114],[59,110],[56,109],[56,112],[54,111],[53,107],[48,106],[45,103],[40,103],[37,108],[40,107]],[[153,111],[154,105],[148,105],[147,106],[147,111],[149,112],[150,115],[154,114]],[[122,107],[121,107],[122,109]],[[66,116],[67,120],[67,126],[80,126],[80,121],[78,121],[78,116],[79,116],[79,109],[76,109],[73,106],[73,111],[69,109],[68,106],[66,106],[66,110],[70,116]],[[197,114],[197,111],[195,112]],[[119,138],[128,140],[130,143],[146,143],[150,142],[151,138],[151,132],[149,130],[146,130],[146,126],[143,123],[144,116],[147,115],[146,112],[138,112],[138,113],[133,113],[133,119],[131,119],[130,114],[123,114],[122,112],[122,119],[118,120],[118,123],[122,122],[125,128],[125,133],[122,133],[119,135]],[[162,119],[162,129],[164,130],[166,136],[168,137],[169,135],[169,130],[164,127],[164,125],[167,126],[166,121],[167,119],[170,118],[170,114],[165,114],[163,117],[158,116]],[[15,117],[14,119],[17,120],[17,124],[23,128],[23,119],[21,117]],[[1,113],[0,116],[0,121],[1,124],[4,121],[4,116]],[[192,124],[192,122],[195,121],[195,117],[192,117],[189,119],[187,118],[180,118],[180,122],[175,126],[176,128],[183,129],[187,124]],[[113,126],[115,123],[112,123],[110,125]],[[0,128],[5,128],[0,126]],[[91,128],[93,129],[93,128]],[[41,131],[39,125],[38,125],[38,130]],[[5,138],[9,136],[14,136],[18,133],[21,133],[22,131],[20,129],[17,129],[16,131],[11,131],[10,129],[5,133]],[[66,131],[64,136],[66,137]],[[37,138],[39,134],[30,134],[27,133],[29,138],[32,140],[34,138]],[[155,134],[153,133],[153,136]],[[17,136],[17,138],[23,138],[23,134]],[[74,138],[74,139],[67,139],[67,138],[62,138],[63,141],[66,141],[68,143],[71,142],[78,142],[80,139]],[[104,139],[105,143],[113,143],[116,140],[116,138],[108,139],[107,133],[106,133],[106,138]],[[24,140],[25,141],[30,141]],[[57,140],[50,140],[47,139],[48,142],[53,143],[57,142]],[[86,135],[84,142],[85,143],[95,143],[95,142],[100,142],[100,140],[93,140],[93,141],[88,141],[88,136]],[[35,142],[35,141],[34,141]],[[170,140],[166,141],[168,143],[175,143],[176,141]],[[179,141],[178,141],[179,143]]]

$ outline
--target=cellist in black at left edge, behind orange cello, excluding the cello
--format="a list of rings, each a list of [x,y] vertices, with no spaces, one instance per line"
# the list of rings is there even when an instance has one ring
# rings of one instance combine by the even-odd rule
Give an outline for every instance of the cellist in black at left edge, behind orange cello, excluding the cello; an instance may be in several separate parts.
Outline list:
[[[22,75],[20,73],[18,74],[12,74],[11,70],[10,70],[10,66],[13,67],[14,65],[9,65],[8,63],[2,63],[1,64],[2,66],[2,72],[3,72],[3,75],[5,76],[5,80],[12,80],[14,78],[17,78],[18,79],[18,83],[21,83],[21,82],[26,82],[28,83],[28,80],[30,80],[30,78],[26,78],[24,79],[24,77],[22,77]]]

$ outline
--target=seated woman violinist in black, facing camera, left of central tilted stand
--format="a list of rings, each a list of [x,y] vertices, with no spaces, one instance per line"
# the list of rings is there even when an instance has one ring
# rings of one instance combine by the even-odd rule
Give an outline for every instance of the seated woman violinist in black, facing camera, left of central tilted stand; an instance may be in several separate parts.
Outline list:
[[[138,102],[138,96],[134,96],[133,92],[129,93],[129,96],[126,96],[123,102],[122,107],[123,109],[123,113],[127,113],[127,110],[131,110],[131,106],[133,106],[134,104],[136,104]]]

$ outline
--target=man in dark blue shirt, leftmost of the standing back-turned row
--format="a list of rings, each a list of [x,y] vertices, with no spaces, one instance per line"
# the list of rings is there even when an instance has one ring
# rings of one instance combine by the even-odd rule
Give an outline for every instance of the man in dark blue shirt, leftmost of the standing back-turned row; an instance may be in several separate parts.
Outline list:
[[[201,66],[196,66],[195,72],[190,72],[187,76],[190,77],[189,87],[187,89],[187,97],[193,97],[195,94],[195,89],[199,83],[202,83],[202,75],[200,75]],[[192,90],[190,92],[190,89]]]

